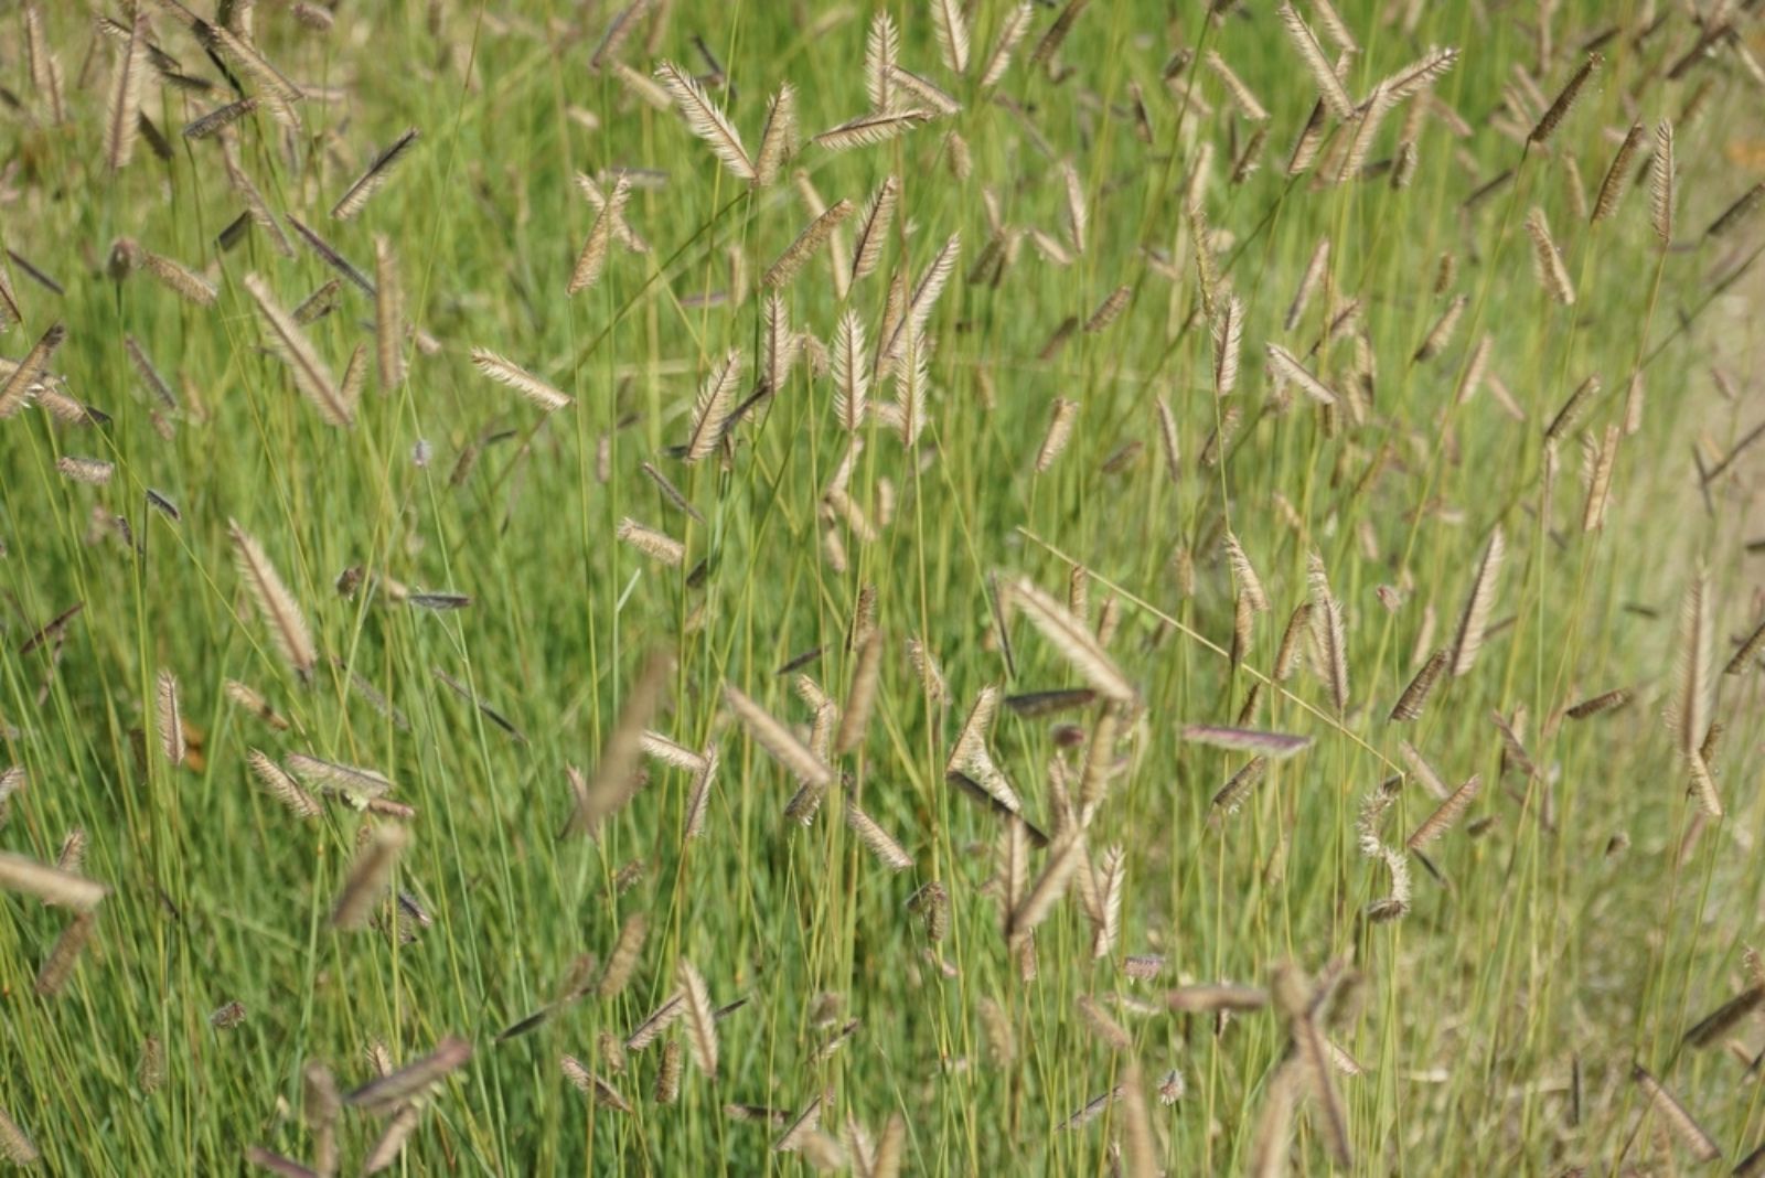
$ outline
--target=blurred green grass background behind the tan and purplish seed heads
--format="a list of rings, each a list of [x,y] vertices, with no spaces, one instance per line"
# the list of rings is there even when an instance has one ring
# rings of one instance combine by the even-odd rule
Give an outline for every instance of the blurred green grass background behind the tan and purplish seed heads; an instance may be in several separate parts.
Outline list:
[[[750,148],[782,81],[798,86],[810,134],[863,109],[868,5],[671,7],[658,44],[646,46],[641,32],[628,60],[646,72],[662,56],[702,71],[690,42],[702,35],[731,79],[713,97]],[[708,365],[732,346],[755,354],[752,284],[808,215],[791,183],[748,194],[678,116],[590,69],[605,5],[342,5],[325,35],[259,5],[258,37],[272,60],[335,95],[302,104],[305,136],[293,150],[263,113],[245,122],[249,171],[277,210],[316,226],[358,266],[369,268],[372,235],[388,235],[409,316],[443,346],[434,356],[413,353],[406,386],[390,395],[371,381],[351,430],[323,425],[259,349],[238,277],[263,273],[293,305],[330,273],[298,247],[295,259],[279,257],[256,229],[237,250],[217,252],[215,235],[242,206],[219,148],[175,134],[208,104],[150,86],[146,113],[173,139],[173,159],[139,145],[111,176],[99,129],[113,46],[94,41],[83,12],[46,14],[69,83],[69,122],[46,125],[32,116],[23,39],[11,35],[16,7],[0,14],[4,79],[26,108],[9,111],[0,130],[0,157],[16,162],[0,236],[65,287],[51,294],[12,265],[26,324],[0,337],[0,351],[18,358],[51,321],[65,323],[56,370],[72,395],[115,418],[69,429],[32,409],[0,425],[0,764],[30,772],[0,846],[53,859],[81,827],[88,873],[115,889],[56,998],[35,996],[32,980],[67,913],[14,898],[0,905],[0,1107],[30,1132],[49,1173],[231,1173],[251,1143],[298,1157],[307,1141],[291,1109],[305,1062],[327,1060],[353,1085],[369,1076],[369,1042],[406,1062],[445,1033],[471,1039],[477,1055],[432,1099],[406,1152],[408,1173],[800,1173],[800,1159],[768,1152],[775,1130],[722,1109],[732,1100],[800,1109],[824,1088],[835,1092],[824,1118],[835,1130],[847,1113],[872,1129],[904,1113],[909,1173],[1098,1173],[1119,1111],[1075,1130],[1057,1125],[1117,1083],[1124,1060],[1087,1032],[1078,995],[1156,1005],[1179,980],[1264,982],[1278,961],[1315,970],[1338,954],[1352,954],[1366,980],[1357,1014],[1333,1032],[1364,1065],[1340,1077],[1364,1173],[1573,1164],[1604,1173],[1620,1157],[1687,1164],[1656,1120],[1636,1132],[1645,1102],[1629,1083],[1633,1062],[1673,1086],[1730,1157],[1751,1150],[1765,1123],[1760,1088],[1730,1055],[1679,1042],[1744,984],[1740,951],[1756,936],[1756,668],[1728,679],[1716,709],[1728,725],[1717,783],[1730,816],[1684,855],[1694,804],[1659,712],[1693,566],[1712,571],[1719,661],[1730,635],[1756,615],[1758,557],[1742,548],[1765,531],[1751,510],[1756,474],[1742,462],[1712,487],[1707,510],[1689,453],[1701,446],[1709,462],[1758,416],[1746,383],[1754,287],[1746,277],[1719,296],[1712,287],[1758,231],[1698,242],[1754,180],[1735,162],[1735,145],[1761,132],[1754,83],[1730,55],[1682,81],[1659,79],[1696,37],[1679,14],[1638,48],[1636,7],[1560,4],[1548,16],[1557,51],[1537,74],[1546,95],[1580,60],[1573,46],[1606,25],[1624,32],[1550,150],[1521,160],[1520,143],[1490,118],[1511,69],[1537,71],[1532,5],[1426,5],[1405,32],[1384,19],[1384,5],[1343,4],[1363,46],[1350,90],[1366,93],[1430,44],[1460,46],[1438,93],[1474,134],[1456,138],[1428,120],[1405,190],[1382,178],[1313,189],[1310,176],[1290,182],[1283,164],[1315,92],[1264,7],[1205,23],[1197,5],[1093,4],[1061,51],[1073,71],[1061,85],[1022,60],[1052,21],[1038,7],[999,88],[1020,118],[974,92],[973,67],[967,79],[939,67],[923,9],[890,5],[904,62],[951,88],[962,113],[881,148],[831,155],[805,146],[796,166],[830,203],[861,205],[888,173],[904,180],[907,231],[890,243],[884,270],[851,294],[872,339],[893,268],[918,273],[958,231],[964,257],[930,326],[935,391],[921,460],[882,427],[867,427],[854,497],[875,515],[879,496],[891,494],[893,518],[874,543],[840,529],[845,571],[822,557],[817,515],[845,444],[826,379],[800,369],[740,429],[727,467],[688,469],[662,455],[685,436]],[[1006,5],[973,9],[974,56],[983,58]],[[154,30],[192,72],[215,76],[173,19],[155,16]],[[1160,78],[1179,46],[1218,48],[1273,115],[1264,166],[1244,183],[1228,183],[1228,173],[1232,138],[1243,145],[1250,127],[1230,129],[1228,99],[1198,65],[1184,76],[1216,113],[1179,129],[1181,92]],[[1151,145],[1124,106],[1131,81],[1145,93]],[[1705,83],[1701,113],[1682,120]],[[584,111],[597,129],[577,118]],[[1649,229],[1647,183],[1599,226],[1573,212],[1566,160],[1580,166],[1590,198],[1613,152],[1610,132],[1633,118],[1680,123],[1682,243],[1668,252]],[[1071,268],[1055,268],[1025,243],[988,289],[965,280],[988,236],[985,189],[1013,226],[1057,235],[1064,217],[1055,159],[1033,143],[1025,120],[1054,157],[1078,168],[1091,245]],[[1401,111],[1371,159],[1389,155],[1400,122]],[[388,187],[355,220],[332,222],[335,196],[411,125],[422,139]],[[967,180],[943,159],[951,130],[973,155]],[[1230,235],[1220,265],[1248,309],[1234,397],[1246,425],[1218,467],[1198,464],[1220,407],[1205,326],[1184,330],[1197,300],[1193,263],[1174,282],[1144,256],[1190,257],[1183,190],[1204,141],[1216,148],[1207,220]],[[655,252],[616,249],[602,282],[567,300],[593,220],[570,176],[620,166],[667,173],[665,187],[634,192],[628,206]],[[1518,168],[1518,178],[1465,212],[1467,194],[1504,168]],[[1548,212],[1566,250],[1580,293],[1573,309],[1550,302],[1532,277],[1523,233],[1532,205]],[[1264,413],[1262,344],[1303,354],[1320,332],[1322,293],[1299,332],[1280,324],[1320,235],[1334,247],[1331,286],[1363,300],[1378,363],[1371,414],[1340,421],[1334,434],[1306,404]],[[118,236],[194,268],[214,263],[219,303],[187,305],[139,273],[113,282],[104,259]],[[729,293],[732,250],[745,296],[697,305],[695,296]],[[1456,259],[1446,296],[1433,291],[1442,254]],[[1038,358],[1064,317],[1082,321],[1121,284],[1133,298],[1114,326]],[[1458,293],[1470,302],[1449,349],[1412,362]],[[787,302],[794,324],[831,335],[840,303],[824,257]],[[346,286],[341,310],[311,337],[341,370],[357,342],[372,353],[371,321],[371,300]],[[169,439],[148,421],[150,395],[127,362],[125,333],[180,390]],[[1525,421],[1502,413],[1488,390],[1453,406],[1481,333],[1493,337],[1491,372]],[[531,367],[577,404],[542,420],[471,369],[473,346]],[[1347,356],[1345,344],[1327,353],[1333,376],[1347,370]],[[1578,436],[1622,421],[1640,363],[1643,429],[1619,451],[1604,531],[1583,534]],[[1737,400],[1714,391],[1712,365],[1740,381]],[[1537,513],[1543,427],[1590,374],[1604,391],[1562,450],[1546,520]],[[1082,409],[1070,448],[1038,476],[1033,460],[1055,397]],[[1158,451],[1156,397],[1179,423],[1177,483]],[[505,434],[450,485],[466,446]],[[432,453],[427,466],[413,462],[420,441]],[[1128,443],[1144,448],[1105,471]],[[607,480],[597,474],[602,444]],[[71,483],[55,469],[62,453],[113,460],[116,474],[99,488]],[[702,526],[660,499],[637,471],[642,460],[676,478]],[[1364,478],[1375,466],[1378,476]],[[143,508],[148,487],[180,506],[182,522]],[[138,550],[94,524],[116,515]],[[706,561],[702,584],[614,543],[627,515],[685,540],[688,568]],[[371,707],[337,667],[321,667],[311,690],[297,684],[244,596],[229,517],[265,543],[325,656],[385,693],[409,730]],[[1509,538],[1495,619],[1509,624],[1470,675],[1442,682],[1419,723],[1387,723],[1423,612],[1435,610],[1444,642],[1495,524]],[[1322,554],[1348,614],[1352,711],[1338,723],[1303,707],[1329,711],[1306,672],[1288,684],[1299,700],[1264,693],[1255,725],[1315,744],[1274,765],[1244,809],[1214,827],[1209,797],[1241,758],[1183,744],[1177,730],[1230,723],[1250,686],[1188,633],[1221,647],[1230,640],[1223,526],[1274,600],[1248,656],[1258,670],[1304,598],[1306,555]],[[1040,929],[1040,975],[1025,984],[983,892],[997,827],[943,783],[943,764],[985,684],[1077,682],[1022,623],[1011,630],[1015,679],[988,640],[987,575],[1027,573],[1064,593],[1064,557],[1094,573],[1093,610],[1115,594],[1112,649],[1147,707],[1123,744],[1130,769],[1089,836],[1093,855],[1117,843],[1126,850],[1117,952],[1091,959],[1089,928],[1068,899]],[[1184,559],[1191,591],[1177,573]],[[367,593],[344,600],[334,580],[357,564],[473,603],[429,614]],[[888,645],[868,737],[842,767],[914,855],[900,875],[845,831],[837,801],[808,829],[789,824],[782,811],[794,785],[720,718],[720,686],[732,682],[777,716],[807,723],[789,677],[773,672],[817,645],[826,652],[808,674],[844,697],[842,642],[861,585],[875,585]],[[1378,585],[1401,589],[1398,610],[1378,603]],[[85,610],[58,665],[42,649],[18,652],[76,601]],[[909,637],[935,652],[948,704],[921,691]],[[653,765],[648,788],[598,841],[558,841],[570,808],[565,767],[593,767],[623,690],[658,645],[680,661],[655,727],[690,746],[715,737],[724,753],[704,838],[681,850],[687,779]],[[161,668],[178,675],[185,716],[203,732],[201,771],[131,751],[131,730],[154,727]],[[469,682],[530,742],[461,705],[436,668]],[[298,732],[270,732],[231,707],[221,690],[228,677],[256,684]],[[1627,711],[1541,735],[1560,707],[1617,686],[1638,690]],[[1530,714],[1528,748],[1544,774],[1530,783],[1498,776],[1490,712],[1516,707]],[[1491,824],[1477,839],[1458,829],[1433,848],[1444,882],[1417,864],[1405,919],[1368,924],[1363,908],[1386,894],[1387,878],[1357,852],[1354,822],[1368,790],[1401,771],[1405,737],[1451,783],[1483,772],[1488,787],[1468,818]],[[397,797],[418,809],[399,885],[434,917],[418,942],[325,926],[360,818],[334,806],[318,824],[297,824],[251,783],[247,748],[372,765],[397,783]],[[1047,764],[1059,755],[1050,723],[1003,714],[994,751],[1031,813],[1045,816]],[[1430,808],[1407,785],[1387,841]],[[1615,836],[1629,845],[1608,854]],[[639,882],[614,894],[614,875],[634,861],[644,862]],[[904,908],[934,878],[953,899],[937,947]],[[651,938],[625,995],[584,1000],[537,1033],[492,1046],[496,1030],[552,996],[572,958],[604,958],[634,912],[648,915]],[[1124,952],[1163,954],[1163,977],[1128,980]],[[720,1077],[708,1083],[688,1065],[680,1102],[660,1107],[650,1100],[651,1049],[612,1077],[634,1111],[595,1107],[563,1081],[560,1053],[590,1060],[602,1030],[623,1035],[667,996],[680,956],[701,968],[717,1002],[748,998],[722,1023]],[[824,1032],[810,1026],[810,1010],[824,991],[844,995],[847,1018],[861,1025],[840,1053],[812,1063]],[[1010,1014],[1015,1063],[988,1055],[981,998]],[[247,1018],[215,1030],[208,1016],[229,1000]],[[1121,1018],[1149,1077],[1181,1069],[1188,1081],[1184,1099],[1153,1106],[1167,1169],[1243,1169],[1285,1049],[1278,1019],[1250,1014],[1216,1033],[1205,1018]],[[1739,1033],[1756,1049],[1756,1030]],[[150,1035],[164,1042],[168,1063],[152,1095],[134,1076]],[[1567,1092],[1576,1060],[1578,1122]],[[374,1132],[351,1116],[346,1159]],[[1301,1173],[1329,1167],[1310,1111],[1297,1118],[1292,1159]]]

